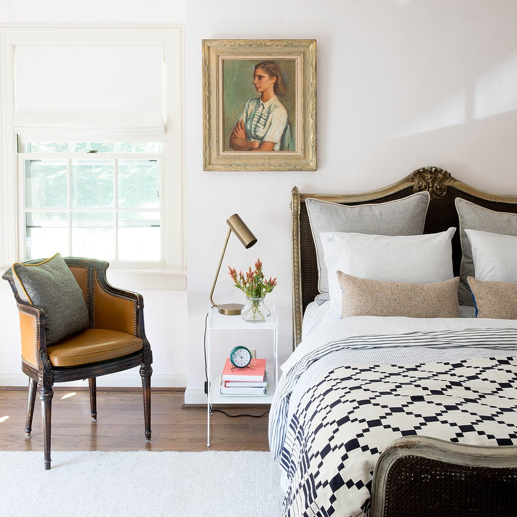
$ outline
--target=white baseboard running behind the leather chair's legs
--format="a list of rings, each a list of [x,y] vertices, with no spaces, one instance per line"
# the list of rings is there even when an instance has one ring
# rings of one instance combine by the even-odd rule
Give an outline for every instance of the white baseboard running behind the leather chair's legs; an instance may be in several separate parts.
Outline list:
[[[27,386],[28,377],[24,373],[0,372],[0,386]],[[88,386],[88,381],[72,381],[70,383],[56,383],[56,386]],[[185,388],[187,375],[153,373],[151,388]],[[142,387],[142,379],[138,371],[131,373],[113,373],[97,377],[97,387]],[[202,391],[202,390],[201,390]],[[206,403],[206,395],[205,403]]]

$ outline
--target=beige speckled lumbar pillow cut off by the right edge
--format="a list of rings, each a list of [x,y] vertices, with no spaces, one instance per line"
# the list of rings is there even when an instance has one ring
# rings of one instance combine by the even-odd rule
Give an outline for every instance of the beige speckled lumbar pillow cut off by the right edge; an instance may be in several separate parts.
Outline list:
[[[483,282],[467,278],[474,296],[476,317],[517,320],[517,283]]]

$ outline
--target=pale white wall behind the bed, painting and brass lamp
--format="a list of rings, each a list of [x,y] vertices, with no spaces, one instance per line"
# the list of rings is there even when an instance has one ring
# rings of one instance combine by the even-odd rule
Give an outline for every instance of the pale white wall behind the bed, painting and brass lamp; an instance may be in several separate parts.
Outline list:
[[[189,371],[204,381],[207,297],[238,212],[258,242],[233,238],[225,266],[278,277],[280,357],[291,352],[290,192],[359,192],[437,165],[478,188],[517,193],[517,3],[513,0],[263,0],[187,3]],[[317,172],[203,172],[201,40],[317,40]],[[260,194],[253,194],[253,192]],[[216,301],[241,297],[229,279]],[[232,342],[220,346],[221,364]]]

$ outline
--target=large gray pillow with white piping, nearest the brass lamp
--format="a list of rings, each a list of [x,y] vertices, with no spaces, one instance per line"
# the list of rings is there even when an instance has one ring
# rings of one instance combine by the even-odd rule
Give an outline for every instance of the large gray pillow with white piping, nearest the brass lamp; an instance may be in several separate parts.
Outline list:
[[[318,291],[316,302],[330,299],[328,271],[320,233],[346,232],[368,235],[421,235],[429,207],[429,192],[417,192],[387,203],[345,206],[308,197],[307,213],[316,247]]]

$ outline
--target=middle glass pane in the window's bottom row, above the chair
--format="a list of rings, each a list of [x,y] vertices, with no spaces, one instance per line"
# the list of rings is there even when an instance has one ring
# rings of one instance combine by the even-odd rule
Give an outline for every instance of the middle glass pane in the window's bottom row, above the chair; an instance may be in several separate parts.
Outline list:
[[[114,212],[72,213],[72,255],[112,260],[115,258]]]

